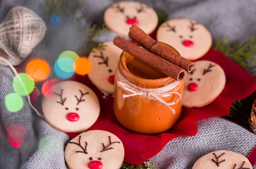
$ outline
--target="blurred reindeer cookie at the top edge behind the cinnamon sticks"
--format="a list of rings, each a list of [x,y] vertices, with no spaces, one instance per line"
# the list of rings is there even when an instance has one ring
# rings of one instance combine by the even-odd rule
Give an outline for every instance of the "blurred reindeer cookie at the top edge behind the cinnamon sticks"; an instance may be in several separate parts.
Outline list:
[[[104,13],[104,22],[116,34],[128,37],[132,24],[151,34],[158,24],[157,13],[144,3],[121,1],[109,6]]]

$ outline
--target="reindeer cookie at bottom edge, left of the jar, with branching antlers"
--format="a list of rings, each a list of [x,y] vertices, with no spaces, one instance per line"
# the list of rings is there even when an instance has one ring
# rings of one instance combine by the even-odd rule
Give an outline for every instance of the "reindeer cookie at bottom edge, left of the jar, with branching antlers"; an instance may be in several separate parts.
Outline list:
[[[122,141],[103,130],[83,132],[65,149],[65,160],[70,169],[119,169],[124,156]]]

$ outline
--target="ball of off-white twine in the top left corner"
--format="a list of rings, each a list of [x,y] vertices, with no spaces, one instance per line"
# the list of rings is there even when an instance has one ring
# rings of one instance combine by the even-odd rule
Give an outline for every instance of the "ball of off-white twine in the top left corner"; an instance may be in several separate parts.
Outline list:
[[[0,48],[9,56],[12,65],[18,65],[41,42],[46,29],[35,12],[24,7],[12,8],[0,24]]]

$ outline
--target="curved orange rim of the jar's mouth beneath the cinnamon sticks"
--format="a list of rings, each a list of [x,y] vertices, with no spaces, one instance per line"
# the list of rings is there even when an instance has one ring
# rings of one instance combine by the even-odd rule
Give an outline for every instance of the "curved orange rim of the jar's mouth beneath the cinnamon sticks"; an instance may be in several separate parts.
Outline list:
[[[180,53],[175,49],[173,48],[172,46],[166,44],[166,43],[163,43],[163,42],[159,42],[160,44],[163,44],[163,45],[166,45],[168,46],[169,48],[172,48],[173,51],[175,51],[177,54],[180,55]],[[128,54],[127,52],[125,51],[122,51],[122,53],[120,54],[120,58],[119,58],[119,62],[120,62],[120,65],[122,66],[122,68],[125,70],[125,73],[128,73],[130,76],[134,77],[134,78],[137,78],[137,79],[141,79],[145,82],[154,82],[154,81],[168,81],[169,83],[172,83],[172,82],[175,82],[175,79],[172,79],[171,77],[167,76],[167,77],[164,77],[164,78],[160,78],[160,79],[145,79],[145,78],[142,78],[142,77],[139,77],[139,76],[135,76],[134,74],[132,74],[128,68],[125,67],[124,63],[123,63],[123,57],[125,57],[125,53]],[[119,68],[118,68],[119,69]],[[120,71],[120,70],[119,70]]]

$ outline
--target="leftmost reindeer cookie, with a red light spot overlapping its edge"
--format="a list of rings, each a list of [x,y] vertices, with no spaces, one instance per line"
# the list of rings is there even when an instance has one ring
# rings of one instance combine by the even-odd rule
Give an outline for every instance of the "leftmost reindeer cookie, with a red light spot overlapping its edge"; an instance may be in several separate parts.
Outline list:
[[[45,120],[63,132],[81,132],[90,128],[99,117],[99,100],[86,85],[64,81],[53,85],[50,96],[44,97]]]

